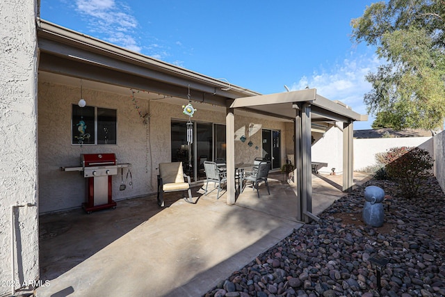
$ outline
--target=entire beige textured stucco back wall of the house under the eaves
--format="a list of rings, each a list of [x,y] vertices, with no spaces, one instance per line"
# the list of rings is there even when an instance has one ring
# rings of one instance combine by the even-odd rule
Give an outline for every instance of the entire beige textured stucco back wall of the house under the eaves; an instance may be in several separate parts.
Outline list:
[[[156,192],[156,175],[161,162],[171,161],[171,130],[172,119],[188,120],[179,105],[168,104],[156,100],[145,100],[136,97],[140,112],[149,114],[149,123],[145,124],[136,109],[131,92],[129,95],[104,93],[83,88],[83,97],[88,106],[116,109],[118,113],[118,144],[117,145],[72,145],[71,144],[71,111],[72,104],[80,99],[79,86],[65,86],[51,82],[40,82],[38,88],[38,127],[39,127],[39,191],[40,213],[60,211],[81,207],[85,202],[86,179],[80,172],[64,172],[60,167],[80,166],[80,154],[113,152],[120,163],[131,163],[133,187],[119,191],[120,172],[113,176],[113,200],[140,197]],[[185,103],[185,101],[184,101]],[[195,103],[197,112],[193,121],[225,124],[225,109],[211,111]],[[284,131],[284,123],[235,116],[235,127],[245,127],[253,122],[261,124],[263,129]],[[248,141],[235,142],[236,163],[252,163],[255,156],[261,156],[261,130],[250,138],[254,145],[249,147]],[[285,136],[282,134],[282,143]],[[255,146],[259,150],[255,150]],[[282,159],[284,158],[284,146]],[[124,175],[126,170],[124,169]],[[157,207],[156,204],[153,207]]]

